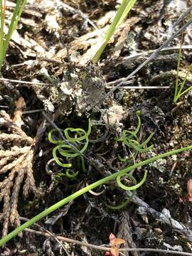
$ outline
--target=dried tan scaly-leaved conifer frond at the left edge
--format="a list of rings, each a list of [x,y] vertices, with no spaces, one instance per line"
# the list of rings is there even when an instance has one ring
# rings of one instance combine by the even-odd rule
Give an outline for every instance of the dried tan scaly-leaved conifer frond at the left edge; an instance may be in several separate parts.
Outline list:
[[[4,110],[0,112],[0,126],[6,129],[0,133],[0,200],[4,201],[2,235],[8,233],[9,224],[19,226],[18,196],[23,183],[23,196],[38,194],[33,178],[33,154],[35,139],[21,129],[23,98],[16,102],[14,118]]]

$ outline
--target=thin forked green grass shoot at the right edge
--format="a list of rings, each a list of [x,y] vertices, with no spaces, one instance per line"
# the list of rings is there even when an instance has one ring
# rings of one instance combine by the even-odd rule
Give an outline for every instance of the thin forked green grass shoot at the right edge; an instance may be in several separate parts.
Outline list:
[[[182,43],[181,43],[182,45]],[[189,65],[185,78],[183,79],[183,81],[181,83],[179,83],[179,68],[181,66],[181,57],[182,57],[182,48],[179,48],[179,52],[178,52],[178,61],[177,61],[177,70],[176,70],[176,84],[175,84],[175,93],[174,93],[174,103],[176,104],[176,102],[178,101],[178,99],[186,94],[187,92],[189,92],[190,90],[192,90],[192,85],[190,87],[188,87],[186,90],[183,90],[184,85],[186,85],[186,80],[188,79],[188,75],[191,72],[191,68],[192,68],[192,63],[191,65]]]

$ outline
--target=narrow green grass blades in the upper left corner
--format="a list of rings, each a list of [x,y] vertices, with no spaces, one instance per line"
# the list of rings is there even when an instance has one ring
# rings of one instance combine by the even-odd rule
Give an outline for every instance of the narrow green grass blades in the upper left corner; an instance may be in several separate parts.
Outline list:
[[[11,23],[9,25],[9,31],[4,35],[4,22],[5,22],[5,12],[6,12],[6,0],[0,0],[0,18],[1,18],[1,28],[0,28],[0,72],[2,65],[4,64],[4,58],[6,56],[6,50],[9,46],[9,41],[11,36],[16,30],[16,26],[23,12],[23,8],[26,5],[26,0],[17,0],[16,6],[14,8],[14,14],[11,18]]]

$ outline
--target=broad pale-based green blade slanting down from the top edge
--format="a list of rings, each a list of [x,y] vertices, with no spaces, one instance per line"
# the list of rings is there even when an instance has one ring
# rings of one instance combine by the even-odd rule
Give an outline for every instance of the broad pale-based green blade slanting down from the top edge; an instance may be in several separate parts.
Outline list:
[[[97,61],[100,58],[100,55],[102,55],[103,50],[105,50],[105,47],[107,46],[107,43],[110,41],[110,38],[114,34],[114,31],[117,29],[120,23],[124,20],[124,18],[129,14],[129,11],[134,6],[135,2],[137,0],[123,0],[122,4],[119,6],[119,9],[117,11],[117,14],[114,16],[114,20],[112,21],[110,28],[107,30],[107,33],[105,34],[104,38],[102,38],[102,42],[100,43],[100,46],[95,53],[94,57],[92,58],[93,63],[97,63]]]

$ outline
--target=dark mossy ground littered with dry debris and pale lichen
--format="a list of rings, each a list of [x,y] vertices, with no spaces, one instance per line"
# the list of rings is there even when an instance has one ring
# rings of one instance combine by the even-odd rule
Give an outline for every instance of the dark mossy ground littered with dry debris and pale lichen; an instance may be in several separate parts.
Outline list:
[[[154,148],[139,153],[135,161],[191,144],[191,92],[178,100],[181,102],[178,107],[173,104],[178,47],[171,47],[180,45],[181,36],[174,38],[167,46],[169,49],[142,68],[129,84],[159,86],[159,89],[130,90],[126,87],[128,85],[124,85],[124,89],[116,90],[100,102],[105,93],[117,85],[116,80],[129,75],[149,56],[150,50],[155,50],[171,36],[174,23],[183,10],[191,5],[190,0],[137,1],[96,66],[89,61],[93,46],[98,36],[105,32],[120,1],[28,2],[7,51],[2,75],[14,80],[33,81],[34,84],[1,81],[0,110],[5,110],[13,117],[15,101],[23,97],[26,105],[23,111],[45,110],[60,129],[75,127],[87,131],[90,117],[92,141],[84,152],[88,159],[85,160],[86,172],[80,170],[78,176],[70,179],[63,175],[65,169],[51,163],[48,168],[53,173],[50,174],[46,171],[46,164],[53,158],[54,145],[48,142],[48,132],[52,127],[46,123],[45,130],[41,131],[41,137],[36,142],[33,156],[33,176],[41,195],[30,193],[28,198],[23,198],[20,191],[20,216],[31,218],[87,183],[121,169],[124,163],[119,161],[118,154],[125,158],[130,156],[130,151],[117,138],[121,137],[124,129],[136,129],[137,110],[142,113],[140,141],[144,142],[150,132],[154,132],[149,142],[149,145],[154,144]],[[10,5],[7,8],[9,19],[11,1],[7,5]],[[178,23],[175,29],[183,23]],[[180,80],[191,63],[191,26],[183,34],[183,46],[188,47],[183,50]],[[49,85],[37,85],[35,82]],[[186,86],[190,83],[189,75]],[[36,137],[43,118],[41,111],[23,112],[23,131],[32,138]],[[0,126],[0,131],[4,132],[3,126]],[[7,132],[10,132],[9,129]],[[100,137],[102,139],[97,141]],[[1,149],[6,150],[6,146],[2,144]],[[191,204],[184,200],[179,203],[179,198],[187,195],[186,184],[192,170],[191,156],[191,152],[186,151],[134,171],[137,181],[142,179],[144,170],[148,171],[146,182],[137,190],[137,196],[154,210],[161,212],[166,208],[172,218],[190,229]],[[90,160],[94,165],[90,164]],[[74,171],[78,171],[81,164],[81,161],[80,165],[74,164]],[[1,182],[4,178],[6,176],[1,174]],[[98,188],[97,192],[101,190]],[[116,183],[108,183],[100,196],[87,193],[69,206],[43,218],[39,224],[55,235],[95,245],[108,245],[109,235],[114,233],[127,241],[125,247],[169,248],[191,252],[192,241],[182,233],[177,233],[170,225],[156,220],[155,216],[146,213],[141,215],[137,204],[131,202],[121,210],[112,210],[106,206],[106,203],[119,205],[125,198],[124,191]],[[1,207],[3,209],[3,203]],[[63,246],[65,250],[54,238],[24,232],[23,238],[17,237],[8,242],[1,250],[1,255],[104,255],[104,252],[65,242]],[[126,253],[124,255],[128,255]],[[139,255],[139,252],[129,252],[129,255]],[[159,253],[140,252],[140,255]]]

